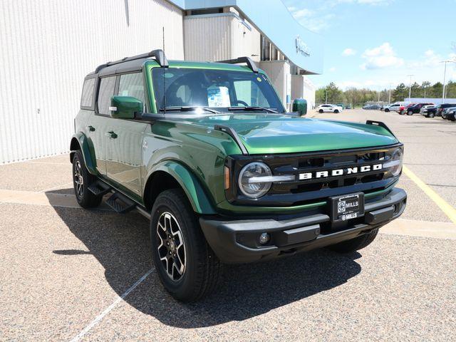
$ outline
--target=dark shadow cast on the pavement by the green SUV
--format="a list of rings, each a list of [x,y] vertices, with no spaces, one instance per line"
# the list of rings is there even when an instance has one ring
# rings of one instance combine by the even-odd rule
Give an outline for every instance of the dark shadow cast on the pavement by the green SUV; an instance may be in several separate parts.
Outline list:
[[[149,222],[140,214],[54,209],[88,252],[61,249],[53,253],[63,257],[92,254],[103,265],[106,281],[119,296],[152,268]],[[320,249],[276,261],[225,265],[217,293],[194,304],[172,299],[154,271],[125,301],[178,328],[244,321],[346,283],[360,273],[361,266],[355,261],[359,257],[357,252],[341,255]]]

